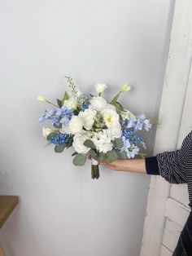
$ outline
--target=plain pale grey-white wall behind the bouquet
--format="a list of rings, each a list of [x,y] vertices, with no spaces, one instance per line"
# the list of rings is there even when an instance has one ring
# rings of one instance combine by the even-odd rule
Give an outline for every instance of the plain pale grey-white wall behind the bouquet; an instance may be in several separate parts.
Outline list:
[[[1,231],[8,256],[138,256],[149,176],[72,166],[44,148],[38,94],[63,95],[63,75],[133,86],[122,101],[156,117],[172,0],[0,1],[0,193],[20,196]],[[148,152],[155,129],[145,135]],[[152,138],[152,139],[151,139]]]

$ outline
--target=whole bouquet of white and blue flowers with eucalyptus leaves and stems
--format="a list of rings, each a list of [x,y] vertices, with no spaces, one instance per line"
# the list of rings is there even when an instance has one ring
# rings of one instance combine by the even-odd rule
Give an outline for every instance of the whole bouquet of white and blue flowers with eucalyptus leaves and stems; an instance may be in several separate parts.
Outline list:
[[[55,152],[74,148],[72,162],[75,166],[83,166],[90,155],[92,179],[99,178],[99,161],[112,162],[117,158],[133,158],[136,155],[144,157],[140,145],[145,149],[146,145],[137,132],[143,128],[148,131],[152,120],[144,114],[135,116],[118,101],[121,93],[129,91],[131,86],[122,86],[111,102],[107,103],[102,96],[106,84],[95,85],[97,95],[82,94],[76,90],[72,77],[66,78],[69,90],[65,91],[63,99],[57,99],[57,104],[41,95],[37,97],[54,106],[46,110],[39,121],[52,122],[54,127],[43,127],[42,135],[48,144],[55,145]]]

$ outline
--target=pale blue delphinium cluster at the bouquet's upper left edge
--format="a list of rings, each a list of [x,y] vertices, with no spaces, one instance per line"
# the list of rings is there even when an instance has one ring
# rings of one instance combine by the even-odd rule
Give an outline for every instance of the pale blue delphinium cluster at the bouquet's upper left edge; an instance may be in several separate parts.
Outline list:
[[[63,106],[62,108],[46,110],[45,113],[39,117],[39,121],[51,120],[53,125],[59,126],[60,124],[64,124],[64,126],[68,126],[72,116],[72,110]]]

